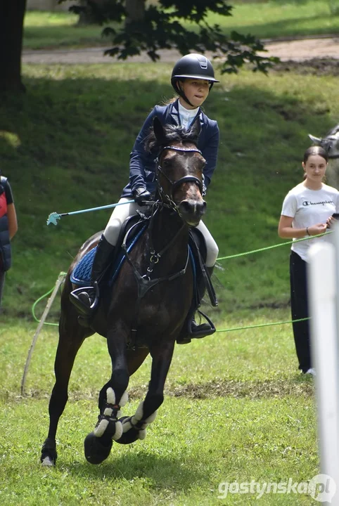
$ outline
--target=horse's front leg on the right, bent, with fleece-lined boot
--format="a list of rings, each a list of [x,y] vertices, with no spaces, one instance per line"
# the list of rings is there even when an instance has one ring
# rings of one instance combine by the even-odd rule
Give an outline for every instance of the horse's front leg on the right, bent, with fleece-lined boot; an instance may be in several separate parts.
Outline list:
[[[164,387],[172,361],[174,342],[167,343],[166,347],[155,346],[151,349],[152,371],[151,381],[148,384],[148,392],[145,400],[141,401],[136,413],[132,417],[122,417],[122,436],[117,443],[129,444],[136,439],[146,438],[146,427],[151,424],[157,415],[158,408],[164,401]]]

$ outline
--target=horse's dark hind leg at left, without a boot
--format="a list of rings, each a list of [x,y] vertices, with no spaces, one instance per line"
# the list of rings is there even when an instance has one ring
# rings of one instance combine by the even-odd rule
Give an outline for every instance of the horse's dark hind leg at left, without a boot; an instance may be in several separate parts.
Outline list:
[[[75,356],[84,342],[85,336],[83,334],[83,330],[76,332],[76,337],[72,334],[60,332],[54,363],[56,382],[49,401],[49,434],[41,450],[40,460],[42,465],[53,466],[56,464],[56,431],[58,421],[68,401],[70,373],[72,372]]]

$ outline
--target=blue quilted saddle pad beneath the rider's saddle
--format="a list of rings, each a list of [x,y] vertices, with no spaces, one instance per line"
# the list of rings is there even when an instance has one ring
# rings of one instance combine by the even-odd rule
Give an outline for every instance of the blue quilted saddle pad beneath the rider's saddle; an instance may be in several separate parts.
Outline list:
[[[142,228],[139,230],[139,232],[132,238],[132,240],[129,241],[127,244],[127,252],[130,252],[131,249],[136,245],[136,242],[138,242],[139,238],[143,234],[143,231],[145,231],[147,227],[147,224],[144,224]],[[91,284],[91,270],[92,265],[94,261],[94,257],[96,254],[96,247],[91,249],[88,253],[82,257],[82,259],[76,264],[75,268],[73,269],[70,280],[75,285],[79,286],[89,286]],[[113,273],[110,277],[109,284],[112,285],[113,281],[117,277],[117,274],[120,271],[120,268],[125,260],[124,252],[122,249],[120,249],[120,253],[117,255],[117,258],[114,261],[113,264]]]

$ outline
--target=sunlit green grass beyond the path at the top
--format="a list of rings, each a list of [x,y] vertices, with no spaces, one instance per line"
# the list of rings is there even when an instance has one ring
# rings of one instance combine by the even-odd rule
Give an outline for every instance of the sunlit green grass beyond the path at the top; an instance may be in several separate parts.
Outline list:
[[[228,35],[236,30],[260,38],[339,32],[339,16],[331,15],[327,0],[234,3],[231,16],[210,14],[207,22],[220,25]],[[77,26],[76,23],[77,16],[72,13],[27,11],[24,47],[41,49],[110,45],[109,39],[101,37],[103,27]]]

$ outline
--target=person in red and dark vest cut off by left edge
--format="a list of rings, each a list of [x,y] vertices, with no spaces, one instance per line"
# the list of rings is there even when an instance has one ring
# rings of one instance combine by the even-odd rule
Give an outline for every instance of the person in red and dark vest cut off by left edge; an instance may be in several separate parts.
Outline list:
[[[6,271],[11,267],[11,240],[18,231],[11,185],[0,174],[0,309]]]

